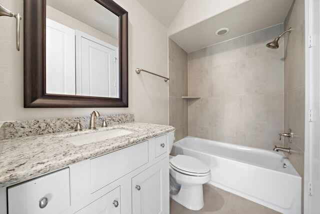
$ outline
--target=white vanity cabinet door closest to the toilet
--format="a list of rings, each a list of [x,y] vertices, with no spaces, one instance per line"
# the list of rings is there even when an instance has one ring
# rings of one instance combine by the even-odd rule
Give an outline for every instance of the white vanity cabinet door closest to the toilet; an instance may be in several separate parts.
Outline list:
[[[132,214],[167,213],[167,158],[132,178]]]

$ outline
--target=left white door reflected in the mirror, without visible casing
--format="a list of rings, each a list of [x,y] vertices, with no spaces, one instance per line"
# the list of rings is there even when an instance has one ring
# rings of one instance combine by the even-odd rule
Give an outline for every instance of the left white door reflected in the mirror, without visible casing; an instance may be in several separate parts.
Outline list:
[[[46,19],[45,35],[46,93],[75,95],[75,31]]]

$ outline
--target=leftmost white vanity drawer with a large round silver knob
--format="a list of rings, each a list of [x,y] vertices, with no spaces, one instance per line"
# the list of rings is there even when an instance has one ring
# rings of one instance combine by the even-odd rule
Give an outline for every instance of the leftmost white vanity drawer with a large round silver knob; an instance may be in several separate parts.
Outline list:
[[[9,214],[59,213],[70,206],[69,168],[8,187]],[[40,199],[42,206],[40,208]],[[45,203],[47,200],[47,203]]]

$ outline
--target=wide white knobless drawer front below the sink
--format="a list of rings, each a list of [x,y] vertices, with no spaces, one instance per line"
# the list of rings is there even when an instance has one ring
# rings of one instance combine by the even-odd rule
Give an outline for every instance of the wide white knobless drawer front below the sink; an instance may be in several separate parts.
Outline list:
[[[148,141],[91,159],[91,193],[147,162]]]

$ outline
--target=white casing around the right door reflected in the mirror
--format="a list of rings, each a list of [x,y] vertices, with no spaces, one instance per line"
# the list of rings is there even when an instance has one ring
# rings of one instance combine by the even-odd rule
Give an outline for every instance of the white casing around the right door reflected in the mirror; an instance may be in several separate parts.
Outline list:
[[[90,40],[94,43],[97,43],[99,45],[102,45],[106,48],[109,48],[111,50],[115,51],[115,62],[118,62],[119,59],[119,51],[118,48],[110,45],[102,40],[99,40],[95,37],[92,37],[91,35],[88,35],[86,33],[83,33],[79,30],[75,30],[75,86],[82,84],[82,71],[81,71],[81,38]],[[119,65],[118,63],[115,63],[115,78],[116,78],[116,97],[119,97]],[[81,95],[82,91],[78,87],[75,87],[75,94]]]

